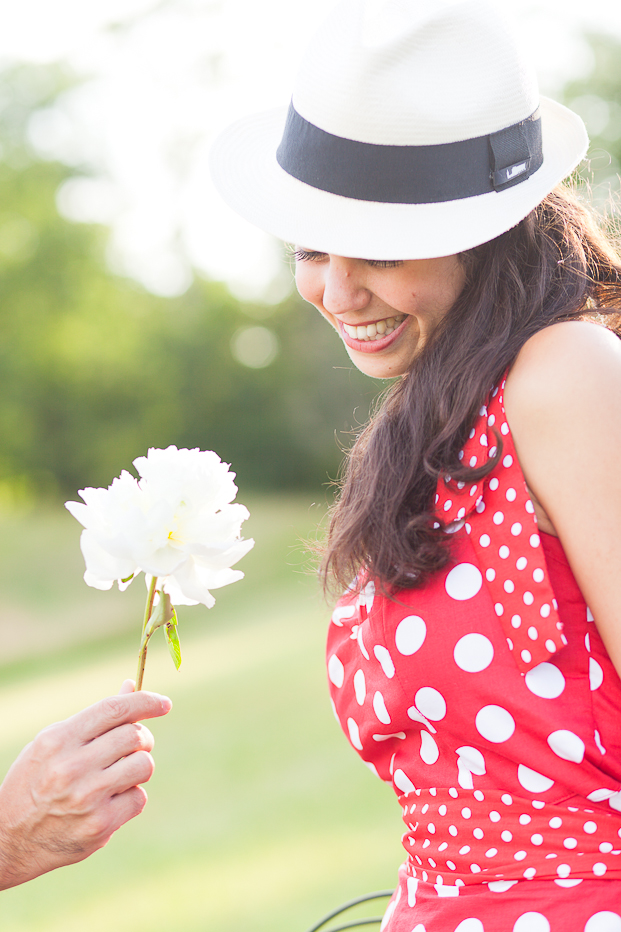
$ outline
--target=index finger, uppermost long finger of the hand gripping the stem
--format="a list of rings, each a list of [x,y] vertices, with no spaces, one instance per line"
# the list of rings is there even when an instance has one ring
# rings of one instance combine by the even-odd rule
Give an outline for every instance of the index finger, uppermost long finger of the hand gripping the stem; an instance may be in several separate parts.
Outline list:
[[[137,693],[108,696],[62,723],[78,742],[85,744],[119,725],[138,722],[143,718],[166,715],[172,708],[167,696],[141,690]]]

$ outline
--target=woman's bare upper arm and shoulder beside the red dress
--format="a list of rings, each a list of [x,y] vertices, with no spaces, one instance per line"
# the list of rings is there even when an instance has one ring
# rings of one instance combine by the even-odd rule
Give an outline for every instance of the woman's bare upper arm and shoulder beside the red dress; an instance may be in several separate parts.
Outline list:
[[[621,340],[585,321],[540,331],[509,374],[505,408],[526,482],[621,676]]]

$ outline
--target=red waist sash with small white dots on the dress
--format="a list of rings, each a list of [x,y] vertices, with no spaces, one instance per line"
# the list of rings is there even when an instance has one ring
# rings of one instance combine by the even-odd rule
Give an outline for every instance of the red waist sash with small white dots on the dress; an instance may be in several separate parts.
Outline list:
[[[399,797],[406,869],[425,883],[621,880],[621,813],[497,790],[415,789]]]

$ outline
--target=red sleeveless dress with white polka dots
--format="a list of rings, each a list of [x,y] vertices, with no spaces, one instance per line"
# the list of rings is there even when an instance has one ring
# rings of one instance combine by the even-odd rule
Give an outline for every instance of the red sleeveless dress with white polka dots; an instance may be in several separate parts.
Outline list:
[[[397,794],[407,854],[386,932],[621,932],[621,681],[503,406],[442,480],[452,562],[398,602],[345,593],[328,675],[350,743]]]

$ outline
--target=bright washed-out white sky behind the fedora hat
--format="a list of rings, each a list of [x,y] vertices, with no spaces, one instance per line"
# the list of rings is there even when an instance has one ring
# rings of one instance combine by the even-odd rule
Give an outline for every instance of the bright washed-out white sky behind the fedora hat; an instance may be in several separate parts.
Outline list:
[[[238,117],[286,106],[309,32],[333,3],[4,0],[0,61],[65,61],[87,79],[34,122],[31,140],[88,166],[93,180],[71,182],[59,206],[111,224],[114,268],[160,294],[182,292],[191,263],[242,297],[283,295],[279,245],[222,204],[207,152]],[[619,0],[525,0],[519,16],[552,96],[588,71],[585,29],[621,35]]]

